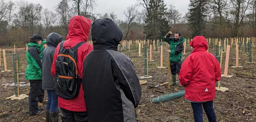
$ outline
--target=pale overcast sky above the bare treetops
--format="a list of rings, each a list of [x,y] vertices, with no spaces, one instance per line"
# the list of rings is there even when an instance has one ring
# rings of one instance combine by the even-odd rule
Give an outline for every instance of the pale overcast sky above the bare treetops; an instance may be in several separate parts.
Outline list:
[[[9,0],[5,0],[8,2]],[[16,0],[12,0],[15,2]],[[54,7],[58,5],[60,0],[27,0],[33,3],[40,3],[43,8],[49,8],[54,10]],[[182,15],[188,12],[189,0],[164,0],[169,8],[170,4],[178,9]],[[95,11],[100,14],[114,12],[120,20],[124,20],[125,16],[123,11],[130,5],[136,4],[137,0],[97,0],[98,6]],[[141,11],[143,7],[139,7],[138,10]]]

